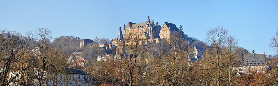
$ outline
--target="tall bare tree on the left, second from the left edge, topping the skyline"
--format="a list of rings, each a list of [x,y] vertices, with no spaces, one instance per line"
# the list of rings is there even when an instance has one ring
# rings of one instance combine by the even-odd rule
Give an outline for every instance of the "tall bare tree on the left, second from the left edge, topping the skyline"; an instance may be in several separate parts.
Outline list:
[[[32,33],[27,34],[29,43],[34,39],[35,43],[33,46],[29,46],[29,52],[32,55],[32,62],[34,63],[34,77],[37,79],[35,84],[39,86],[44,85],[45,71],[52,65],[47,61],[47,58],[51,56],[50,39],[52,32],[50,28],[38,28],[35,31],[34,38]]]

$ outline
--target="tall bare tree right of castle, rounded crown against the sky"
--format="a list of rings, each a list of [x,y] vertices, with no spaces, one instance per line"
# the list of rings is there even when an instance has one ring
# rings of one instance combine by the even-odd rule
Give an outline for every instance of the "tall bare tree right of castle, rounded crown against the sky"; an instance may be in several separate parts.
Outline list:
[[[221,76],[224,64],[222,64],[224,53],[222,53],[222,48],[227,44],[227,35],[228,30],[223,27],[212,28],[206,33],[205,43],[211,46],[212,55],[207,56],[207,58],[212,67],[209,69],[205,69],[208,72],[207,77],[212,77],[216,81],[216,85],[220,86],[221,81],[225,81],[225,77]],[[223,57],[223,58],[222,58]],[[216,70],[215,70],[216,69]],[[216,74],[212,73],[213,71],[217,71]]]

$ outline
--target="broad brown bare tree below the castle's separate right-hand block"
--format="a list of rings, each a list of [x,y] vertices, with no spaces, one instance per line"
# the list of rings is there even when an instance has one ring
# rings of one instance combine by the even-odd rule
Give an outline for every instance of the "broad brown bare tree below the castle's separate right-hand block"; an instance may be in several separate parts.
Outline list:
[[[169,39],[164,41],[167,49],[160,54],[154,69],[158,85],[176,86],[186,85],[188,76],[186,74],[189,65],[185,40],[179,33],[174,33]]]

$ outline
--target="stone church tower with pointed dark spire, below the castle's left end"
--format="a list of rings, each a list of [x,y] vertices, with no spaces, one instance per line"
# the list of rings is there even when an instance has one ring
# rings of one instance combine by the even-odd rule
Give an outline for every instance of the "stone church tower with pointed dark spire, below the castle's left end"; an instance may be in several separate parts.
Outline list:
[[[119,37],[117,42],[116,55],[114,56],[114,59],[122,59],[125,55],[126,49],[121,25],[119,28]]]

